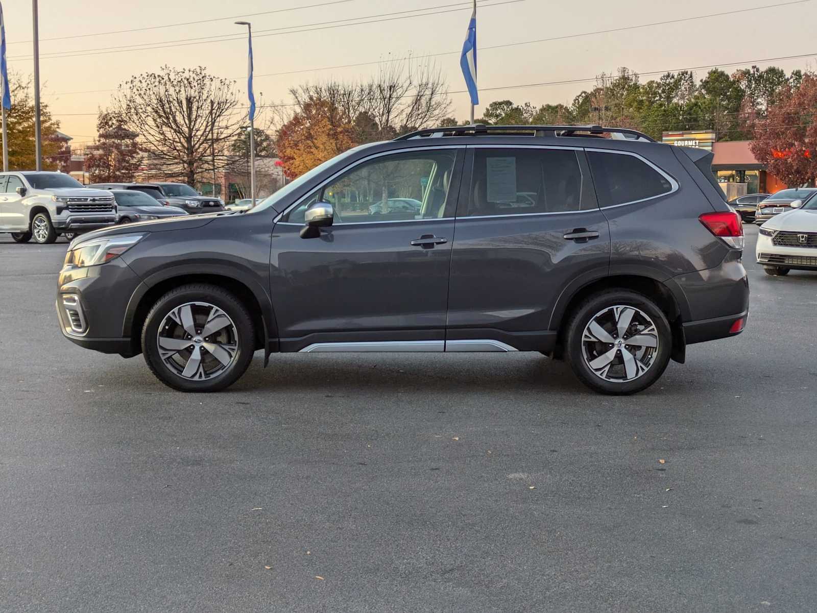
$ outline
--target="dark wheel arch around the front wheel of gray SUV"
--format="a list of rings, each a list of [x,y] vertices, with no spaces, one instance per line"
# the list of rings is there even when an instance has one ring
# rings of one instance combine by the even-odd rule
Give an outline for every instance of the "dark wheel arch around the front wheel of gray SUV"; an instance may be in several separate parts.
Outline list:
[[[169,276],[156,280],[150,285],[142,283],[127,305],[123,322],[123,336],[131,339],[134,355],[141,352],[142,326],[145,324],[145,318],[147,318],[153,305],[168,291],[190,283],[214,285],[235,295],[244,304],[252,318],[252,325],[256,334],[255,349],[266,349],[270,331],[276,332],[275,320],[270,319],[272,317],[271,305],[267,305],[265,309],[262,305],[265,298],[259,298],[256,291],[252,291],[247,283],[225,274],[169,272]],[[267,299],[266,302],[269,302],[269,300]]]

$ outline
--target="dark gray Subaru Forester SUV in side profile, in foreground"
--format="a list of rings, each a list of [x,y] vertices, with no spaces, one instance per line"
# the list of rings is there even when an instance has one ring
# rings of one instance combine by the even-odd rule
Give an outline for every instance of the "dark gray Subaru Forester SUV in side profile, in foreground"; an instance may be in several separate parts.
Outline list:
[[[250,211],[71,243],[66,338],[212,391],[252,354],[511,352],[634,393],[743,331],[743,228],[712,153],[602,127],[445,127],[324,162]],[[394,207],[394,202],[417,202]]]

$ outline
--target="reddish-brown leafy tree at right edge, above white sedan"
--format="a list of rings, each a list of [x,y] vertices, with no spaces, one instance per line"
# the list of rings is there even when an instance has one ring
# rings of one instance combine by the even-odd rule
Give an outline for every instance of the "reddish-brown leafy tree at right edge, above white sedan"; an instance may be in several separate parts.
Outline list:
[[[817,75],[805,73],[799,87],[784,85],[766,118],[750,118],[758,162],[786,184],[797,187],[817,176]]]

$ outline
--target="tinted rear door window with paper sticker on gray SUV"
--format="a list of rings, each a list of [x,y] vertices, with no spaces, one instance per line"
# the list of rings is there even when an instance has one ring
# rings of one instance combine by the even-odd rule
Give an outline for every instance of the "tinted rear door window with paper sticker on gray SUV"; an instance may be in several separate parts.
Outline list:
[[[474,149],[464,215],[558,213],[582,208],[582,171],[574,149]]]

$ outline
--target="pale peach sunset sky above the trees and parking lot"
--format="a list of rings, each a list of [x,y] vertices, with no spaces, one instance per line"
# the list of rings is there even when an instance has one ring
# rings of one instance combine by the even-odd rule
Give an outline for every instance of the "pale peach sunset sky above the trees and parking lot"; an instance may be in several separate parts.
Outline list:
[[[623,32],[593,33],[773,3],[784,6]],[[10,69],[28,75],[33,71],[31,2],[4,0],[2,4]],[[324,6],[287,10],[315,4]],[[648,73],[741,63],[725,67],[732,72],[753,60],[813,54],[757,62],[761,67],[775,64],[790,71],[813,68],[817,58],[813,33],[817,0],[728,0],[717,4],[705,0],[480,0],[479,5],[479,85],[483,91],[478,117],[492,100],[569,104],[578,91],[592,87],[596,74],[619,66]],[[400,14],[393,15],[397,11]],[[252,16],[262,12],[266,14]],[[322,0],[40,0],[43,100],[60,120],[60,130],[74,136],[74,146],[82,148],[96,134],[96,112],[109,103],[110,90],[133,74],[153,71],[163,64],[176,68],[203,65],[220,77],[234,78],[244,98],[246,29],[234,25],[234,20],[252,21],[259,104],[288,102],[288,88],[303,82],[367,78],[377,72],[378,60],[408,54],[440,54],[433,60],[448,78],[449,90],[462,91],[465,87],[459,71],[459,49],[470,12],[470,2],[454,0],[336,0],[332,4]],[[424,13],[426,16],[418,16]],[[212,21],[189,23],[199,20]],[[337,27],[339,20],[348,21]],[[133,29],[141,31],[122,32]],[[292,31],[304,29],[315,30]],[[592,34],[574,36],[583,33]],[[483,48],[542,38],[561,39]],[[133,51],[129,46],[134,45],[169,47],[140,47]],[[370,64],[325,69],[364,63]],[[696,76],[701,78],[705,73],[706,69],[699,69]],[[649,78],[653,76],[645,75],[643,80]],[[587,82],[508,88],[577,79]],[[467,94],[453,93],[451,98],[454,114],[459,119],[467,118]]]

